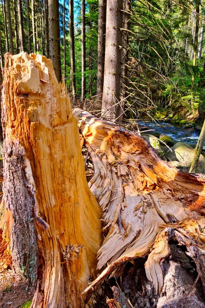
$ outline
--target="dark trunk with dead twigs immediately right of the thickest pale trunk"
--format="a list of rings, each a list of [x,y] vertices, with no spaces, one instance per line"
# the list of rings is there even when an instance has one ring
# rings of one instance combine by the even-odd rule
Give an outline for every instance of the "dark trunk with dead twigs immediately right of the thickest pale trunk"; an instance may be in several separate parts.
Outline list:
[[[131,0],[124,0],[124,14],[122,23],[122,49],[121,49],[121,95],[119,120],[124,119],[124,107],[127,97],[127,77],[128,77],[128,54],[129,54],[129,28],[130,28]]]

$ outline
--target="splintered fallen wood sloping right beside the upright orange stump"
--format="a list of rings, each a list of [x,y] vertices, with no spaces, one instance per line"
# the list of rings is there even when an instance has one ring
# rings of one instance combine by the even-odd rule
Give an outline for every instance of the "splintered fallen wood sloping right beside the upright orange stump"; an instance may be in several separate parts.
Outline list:
[[[122,263],[146,255],[147,277],[155,292],[160,292],[161,262],[169,255],[170,238],[185,245],[189,239],[187,250],[194,247],[192,258],[201,270],[205,264],[205,179],[170,167],[138,134],[86,111],[73,112],[93,161],[89,186],[103,210],[105,233],[98,268],[106,268],[85,293],[89,296]]]

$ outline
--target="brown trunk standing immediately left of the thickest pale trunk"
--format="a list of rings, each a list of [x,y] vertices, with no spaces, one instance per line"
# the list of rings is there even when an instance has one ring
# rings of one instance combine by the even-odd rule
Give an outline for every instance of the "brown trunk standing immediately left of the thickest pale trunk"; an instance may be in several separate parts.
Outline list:
[[[103,94],[105,49],[106,49],[106,2],[98,2],[98,42],[97,42],[97,94]]]

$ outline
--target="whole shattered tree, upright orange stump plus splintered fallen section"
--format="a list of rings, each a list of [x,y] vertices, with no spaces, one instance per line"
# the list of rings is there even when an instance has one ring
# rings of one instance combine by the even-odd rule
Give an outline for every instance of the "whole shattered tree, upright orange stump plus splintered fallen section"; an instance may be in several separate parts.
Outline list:
[[[150,285],[142,285],[140,300],[149,292],[155,302],[141,307],[159,307],[160,296],[161,301],[170,300],[169,269],[162,263],[173,250],[170,240],[186,247],[195,262],[198,277],[190,280],[190,300],[192,306],[193,301],[201,306],[205,178],[169,166],[136,133],[80,109],[73,113],[74,117],[65,85],[58,84],[50,60],[26,53],[6,55],[5,221],[13,266],[35,281],[32,307],[83,307],[85,296],[88,302],[106,278],[122,273],[128,261],[144,257]],[[94,166],[91,191],[80,153],[83,143]],[[101,274],[87,287],[97,252]],[[179,294],[183,287],[179,276],[172,279],[172,293]],[[180,296],[182,292],[178,300]],[[136,305],[140,307],[137,301]]]

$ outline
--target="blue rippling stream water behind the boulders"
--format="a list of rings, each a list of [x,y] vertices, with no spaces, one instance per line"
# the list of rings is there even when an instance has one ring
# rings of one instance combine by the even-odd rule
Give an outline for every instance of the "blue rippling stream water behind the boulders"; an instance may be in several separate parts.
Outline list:
[[[200,131],[195,128],[185,128],[182,126],[173,125],[169,122],[152,122],[152,121],[137,121],[140,127],[147,127],[141,129],[142,131],[148,129],[154,129],[154,131],[145,132],[148,134],[153,134],[157,132],[160,134],[166,134],[176,142],[187,142],[192,147],[195,147],[197,140],[199,138]]]

